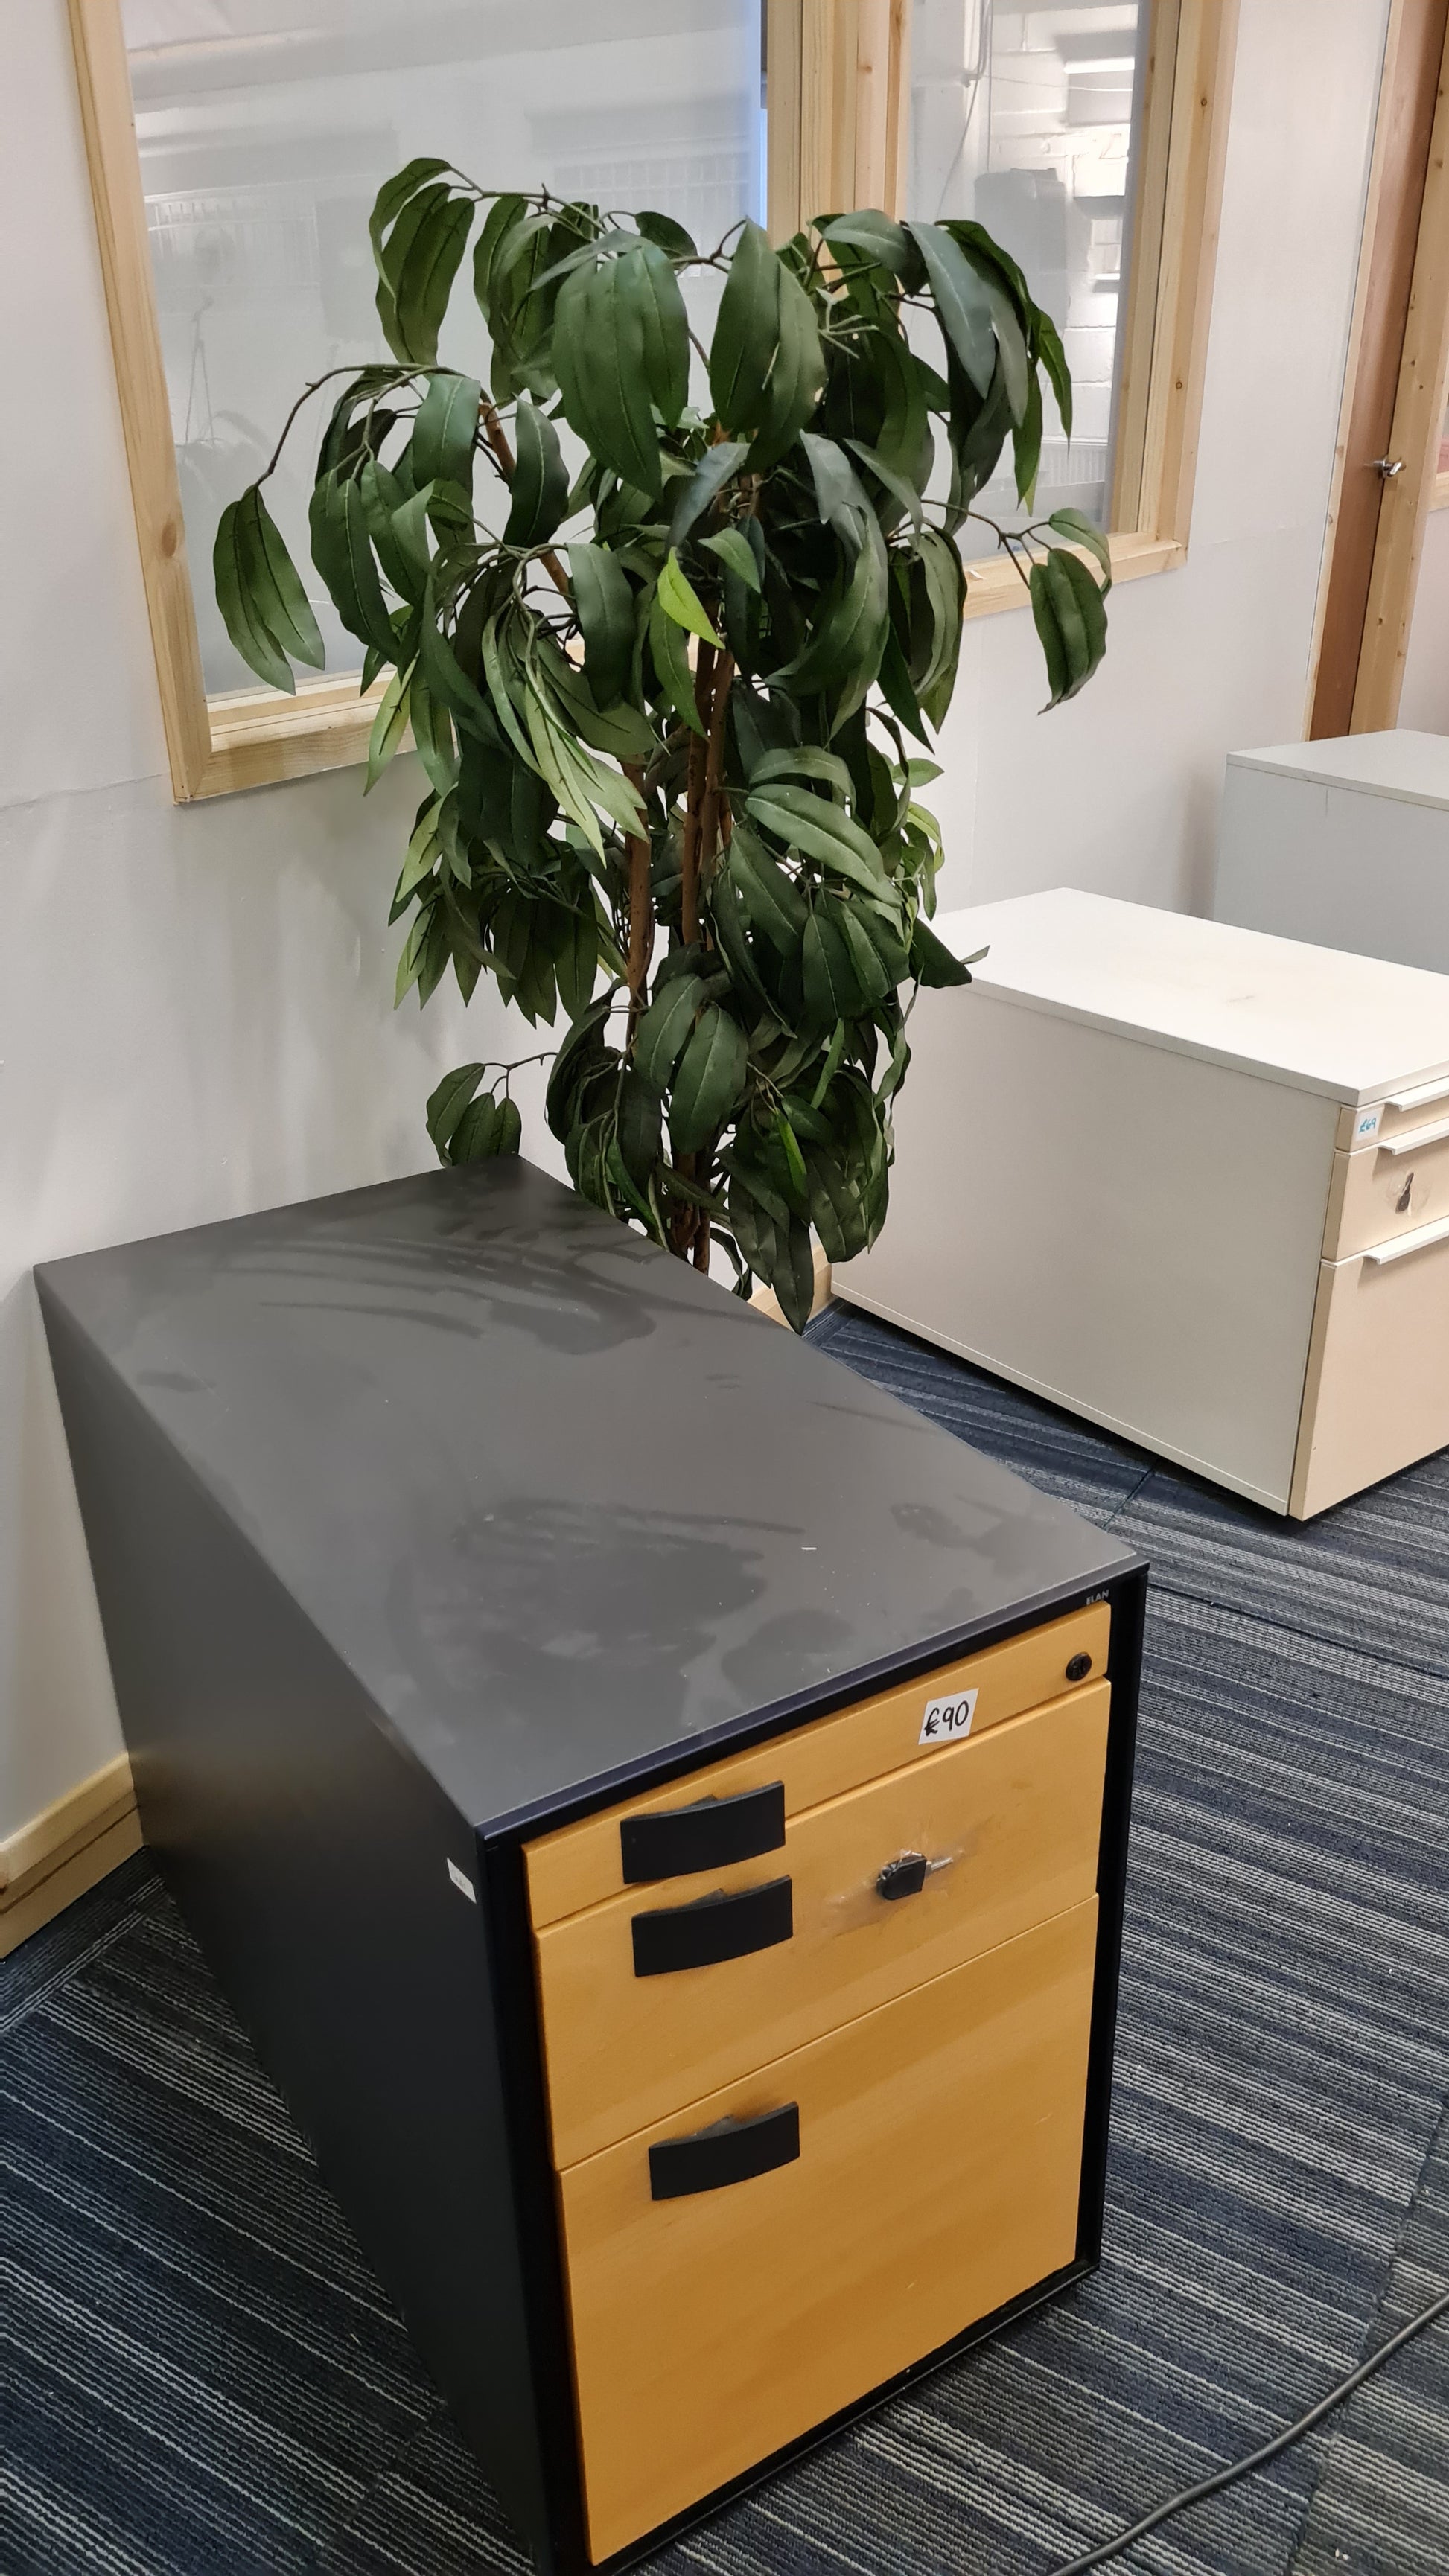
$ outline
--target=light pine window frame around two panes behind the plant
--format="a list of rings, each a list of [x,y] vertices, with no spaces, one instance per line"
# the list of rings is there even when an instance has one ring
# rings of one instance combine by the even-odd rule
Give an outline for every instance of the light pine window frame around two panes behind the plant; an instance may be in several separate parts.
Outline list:
[[[67,0],[95,198],[121,428],[160,708],[178,804],[366,757],[382,683],[356,672],[206,696],[160,353],[121,0]],[[1152,57],[1124,312],[1111,569],[1186,562],[1238,0],[1150,0]],[[910,106],[910,0],[766,0],[768,198],[776,240],[828,206],[897,209]],[[967,618],[1021,608],[995,554],[969,567]]]

